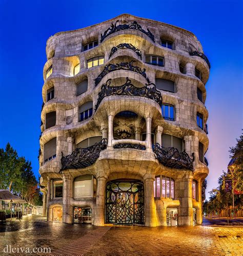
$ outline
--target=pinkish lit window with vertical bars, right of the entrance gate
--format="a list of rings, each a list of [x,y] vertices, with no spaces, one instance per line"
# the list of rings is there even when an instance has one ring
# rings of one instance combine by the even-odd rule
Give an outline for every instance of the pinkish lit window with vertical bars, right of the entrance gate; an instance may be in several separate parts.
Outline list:
[[[174,180],[166,176],[157,176],[154,180],[154,197],[174,199]],[[161,192],[161,194],[160,194]],[[160,196],[161,195],[161,196]]]

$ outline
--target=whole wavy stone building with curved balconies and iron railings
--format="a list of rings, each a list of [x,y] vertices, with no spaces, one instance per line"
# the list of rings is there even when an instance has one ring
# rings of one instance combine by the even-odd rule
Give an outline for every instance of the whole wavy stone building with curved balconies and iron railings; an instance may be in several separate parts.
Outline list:
[[[47,41],[39,173],[64,223],[193,225],[209,169],[196,36],[122,14]]]

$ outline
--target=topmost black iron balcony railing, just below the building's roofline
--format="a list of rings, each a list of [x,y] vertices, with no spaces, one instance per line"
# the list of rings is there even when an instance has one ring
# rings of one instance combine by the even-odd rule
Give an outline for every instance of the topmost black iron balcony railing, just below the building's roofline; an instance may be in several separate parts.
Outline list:
[[[127,30],[127,29],[138,30],[138,31],[146,34],[154,42],[154,35],[151,33],[151,31],[148,28],[147,28],[147,31],[144,30],[141,27],[141,25],[139,25],[136,21],[133,21],[130,24],[124,24],[124,25],[116,25],[117,22],[118,22],[118,20],[115,22],[115,25],[113,23],[111,23],[111,26],[104,32],[104,34],[101,34],[100,43],[102,43],[104,41],[104,39],[107,38],[107,36],[109,36],[110,34],[113,34],[117,31],[121,31],[121,30]]]

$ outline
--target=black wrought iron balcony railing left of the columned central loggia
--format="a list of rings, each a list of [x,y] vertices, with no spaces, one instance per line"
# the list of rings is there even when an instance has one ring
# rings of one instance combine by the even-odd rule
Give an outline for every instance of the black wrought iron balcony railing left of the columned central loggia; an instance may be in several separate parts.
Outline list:
[[[75,149],[71,155],[62,152],[62,170],[79,169],[91,166],[99,157],[99,153],[107,147],[107,139],[103,139],[85,149]]]

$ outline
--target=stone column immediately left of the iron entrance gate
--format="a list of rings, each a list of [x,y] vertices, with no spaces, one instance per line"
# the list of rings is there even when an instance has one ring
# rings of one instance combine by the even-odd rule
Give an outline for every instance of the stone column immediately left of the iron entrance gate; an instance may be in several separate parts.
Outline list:
[[[105,176],[97,176],[97,192],[96,192],[96,204],[94,225],[104,226],[105,224],[105,189],[106,179]]]

